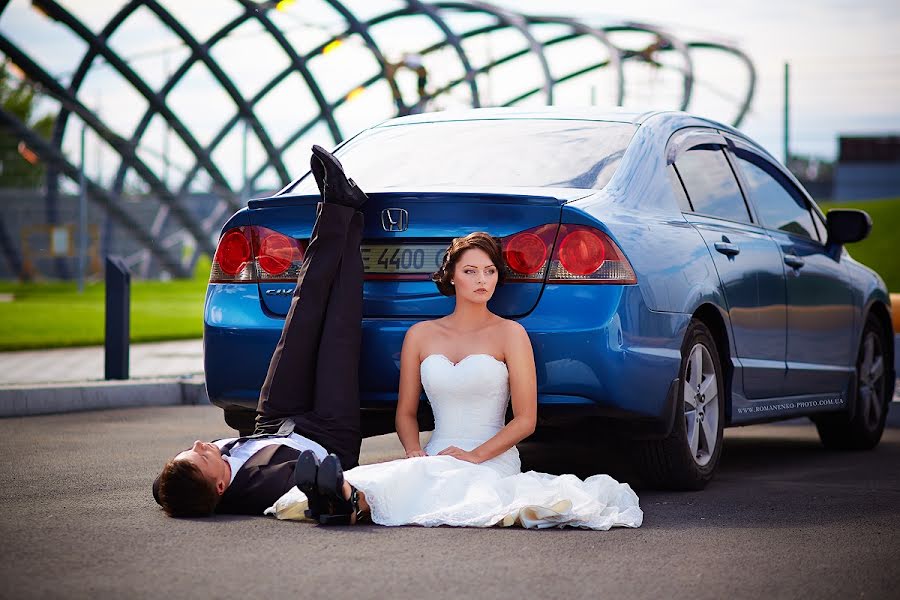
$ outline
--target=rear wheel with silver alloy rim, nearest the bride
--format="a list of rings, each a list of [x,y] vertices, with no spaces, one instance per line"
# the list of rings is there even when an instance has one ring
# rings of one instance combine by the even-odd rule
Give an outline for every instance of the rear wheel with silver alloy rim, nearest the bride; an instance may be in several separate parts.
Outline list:
[[[710,392],[715,397],[710,397]],[[722,454],[725,381],[716,342],[699,319],[691,320],[681,346],[675,402],[669,435],[640,442],[637,466],[641,479],[656,488],[703,489]]]

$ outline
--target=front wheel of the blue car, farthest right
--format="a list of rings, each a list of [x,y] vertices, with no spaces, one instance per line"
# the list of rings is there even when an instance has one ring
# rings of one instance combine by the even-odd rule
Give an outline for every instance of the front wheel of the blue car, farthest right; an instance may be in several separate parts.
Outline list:
[[[830,450],[871,450],[881,441],[890,408],[887,342],[878,319],[866,319],[856,357],[856,393],[852,411],[816,415],[819,439]],[[853,415],[852,418],[850,415]]]

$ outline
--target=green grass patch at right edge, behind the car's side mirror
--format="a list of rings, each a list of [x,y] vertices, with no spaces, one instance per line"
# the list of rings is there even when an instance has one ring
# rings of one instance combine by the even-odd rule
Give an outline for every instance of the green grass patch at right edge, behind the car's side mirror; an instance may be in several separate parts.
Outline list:
[[[832,208],[858,208],[872,217],[872,233],[855,244],[847,244],[851,256],[867,267],[875,269],[884,279],[888,290],[900,292],[900,198],[868,200],[865,202],[820,202],[828,212]]]

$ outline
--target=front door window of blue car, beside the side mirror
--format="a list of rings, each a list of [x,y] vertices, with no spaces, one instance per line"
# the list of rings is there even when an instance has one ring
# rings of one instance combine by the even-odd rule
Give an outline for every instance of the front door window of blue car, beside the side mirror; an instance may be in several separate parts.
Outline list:
[[[819,239],[806,198],[790,182],[750,154],[737,153],[737,165],[764,227]]]

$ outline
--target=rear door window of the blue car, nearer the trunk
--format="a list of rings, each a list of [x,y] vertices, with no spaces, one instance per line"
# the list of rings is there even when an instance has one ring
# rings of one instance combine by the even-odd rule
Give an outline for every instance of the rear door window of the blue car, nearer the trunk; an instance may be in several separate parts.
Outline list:
[[[679,155],[675,169],[694,212],[751,223],[744,196],[720,146],[705,144]]]

